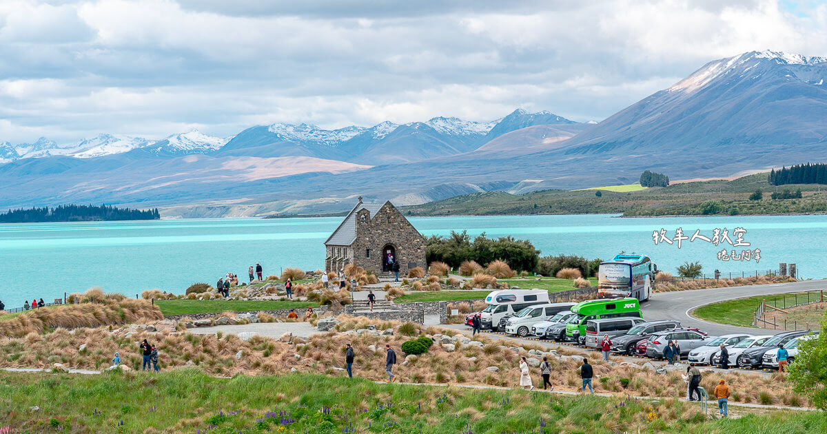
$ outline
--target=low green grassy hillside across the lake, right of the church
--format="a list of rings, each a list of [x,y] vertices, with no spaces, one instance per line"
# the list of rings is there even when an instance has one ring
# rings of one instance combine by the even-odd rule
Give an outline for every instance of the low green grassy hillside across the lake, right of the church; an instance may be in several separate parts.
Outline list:
[[[620,186],[615,186],[620,187]],[[604,187],[608,188],[608,187]],[[719,201],[710,215],[792,214],[827,212],[827,186],[816,184],[772,186],[767,174],[753,174],[732,181],[697,181],[629,192],[590,190],[543,190],[524,194],[472,193],[422,205],[403,207],[411,216],[538,215],[616,213],[626,216],[704,215],[707,201]],[[773,192],[801,189],[800,199],[771,199]],[[761,190],[760,201],[749,195]]]

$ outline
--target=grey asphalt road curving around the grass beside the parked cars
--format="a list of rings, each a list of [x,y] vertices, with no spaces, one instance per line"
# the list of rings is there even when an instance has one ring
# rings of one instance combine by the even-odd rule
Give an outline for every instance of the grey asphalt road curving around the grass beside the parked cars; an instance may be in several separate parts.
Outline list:
[[[730,288],[693,289],[674,291],[672,293],[653,293],[652,298],[648,302],[641,303],[641,308],[643,309],[643,317],[647,320],[676,319],[686,327],[698,327],[713,336],[744,332],[756,334],[761,332],[762,329],[706,322],[691,317],[689,312],[705,304],[721,302],[732,298],[771,295],[775,293],[801,293],[819,289],[827,290],[827,280],[803,280],[789,284],[749,285]],[[758,308],[757,304],[756,308]]]

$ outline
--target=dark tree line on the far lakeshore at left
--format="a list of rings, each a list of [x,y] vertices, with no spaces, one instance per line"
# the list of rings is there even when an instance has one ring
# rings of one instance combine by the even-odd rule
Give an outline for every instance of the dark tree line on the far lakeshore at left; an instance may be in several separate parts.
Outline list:
[[[140,210],[111,205],[60,205],[12,209],[0,214],[2,223],[31,222],[99,222],[115,220],[158,220],[158,208]]]

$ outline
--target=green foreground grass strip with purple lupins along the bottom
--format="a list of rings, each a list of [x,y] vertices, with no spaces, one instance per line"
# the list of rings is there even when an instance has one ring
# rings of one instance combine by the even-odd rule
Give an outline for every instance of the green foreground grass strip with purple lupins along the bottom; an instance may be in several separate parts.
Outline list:
[[[32,406],[40,410],[32,412]],[[744,411],[729,408],[730,413]],[[698,407],[672,400],[375,384],[315,374],[218,379],[196,369],[101,375],[2,372],[0,432],[7,427],[7,432],[815,434],[827,431],[827,413],[774,412],[710,421]]]

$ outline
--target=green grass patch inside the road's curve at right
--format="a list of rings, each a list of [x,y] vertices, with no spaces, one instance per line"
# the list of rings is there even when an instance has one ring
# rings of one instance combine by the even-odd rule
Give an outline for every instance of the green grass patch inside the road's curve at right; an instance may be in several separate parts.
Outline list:
[[[806,293],[799,293],[800,302],[803,303],[803,298]],[[818,297],[816,294],[810,294],[810,298],[815,300]],[[776,306],[778,308],[786,308],[796,304],[796,294],[777,294],[777,295],[761,295],[748,298],[737,298],[720,303],[707,304],[692,311],[692,315],[700,319],[718,322],[720,324],[732,324],[733,326],[753,327],[753,316],[755,309],[761,304],[761,300],[766,299],[767,305]]]

